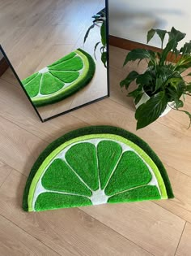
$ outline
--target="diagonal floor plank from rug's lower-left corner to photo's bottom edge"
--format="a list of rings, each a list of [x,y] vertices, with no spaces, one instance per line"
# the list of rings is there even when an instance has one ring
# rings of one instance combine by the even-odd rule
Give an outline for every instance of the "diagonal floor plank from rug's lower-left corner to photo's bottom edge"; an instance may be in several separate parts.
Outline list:
[[[58,254],[114,256],[128,252],[128,255],[151,255],[77,208],[24,212],[21,204],[25,183],[25,176],[11,172],[0,188],[0,214]]]

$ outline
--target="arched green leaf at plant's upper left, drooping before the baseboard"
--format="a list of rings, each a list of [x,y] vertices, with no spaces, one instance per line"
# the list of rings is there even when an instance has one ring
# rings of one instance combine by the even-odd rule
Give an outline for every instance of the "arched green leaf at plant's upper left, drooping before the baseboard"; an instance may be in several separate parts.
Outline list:
[[[145,49],[131,50],[129,54],[127,54],[123,66],[125,66],[129,61],[135,61],[137,59],[151,59],[155,62],[155,53],[152,50]]]

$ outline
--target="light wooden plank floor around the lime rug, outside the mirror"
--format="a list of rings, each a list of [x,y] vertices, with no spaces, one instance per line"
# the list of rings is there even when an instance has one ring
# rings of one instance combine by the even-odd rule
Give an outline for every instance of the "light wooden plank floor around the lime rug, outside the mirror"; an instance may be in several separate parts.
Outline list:
[[[119,82],[125,50],[111,47],[111,98],[40,123],[10,72],[0,79],[0,254],[31,255],[190,255],[191,129],[182,113],[171,111],[136,132],[132,100]],[[130,68],[134,68],[134,64]],[[137,67],[136,67],[137,68]],[[139,65],[139,72],[145,68]],[[191,101],[186,99],[191,111]],[[47,145],[75,128],[108,124],[147,141],[167,168],[176,198],[53,210],[21,209],[32,164]]]

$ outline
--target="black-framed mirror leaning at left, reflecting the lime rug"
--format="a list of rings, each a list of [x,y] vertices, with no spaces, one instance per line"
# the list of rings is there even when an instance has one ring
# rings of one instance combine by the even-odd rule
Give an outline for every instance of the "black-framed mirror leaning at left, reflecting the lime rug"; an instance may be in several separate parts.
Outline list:
[[[0,50],[42,121],[108,97],[108,1],[11,1],[0,10]]]

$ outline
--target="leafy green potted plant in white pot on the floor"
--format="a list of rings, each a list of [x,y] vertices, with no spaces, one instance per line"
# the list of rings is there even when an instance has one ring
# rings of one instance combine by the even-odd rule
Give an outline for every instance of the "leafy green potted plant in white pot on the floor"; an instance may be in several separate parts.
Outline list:
[[[184,112],[189,116],[191,123],[189,111],[181,109],[184,106],[185,95],[191,96],[191,83],[186,82],[185,76],[182,76],[182,73],[188,72],[188,68],[191,67],[191,41],[186,42],[178,50],[178,43],[185,38],[185,33],[172,27],[170,32],[151,29],[147,33],[147,43],[155,34],[160,38],[161,50],[131,50],[126,56],[124,66],[130,61],[138,60],[139,64],[142,59],[146,59],[146,71],[142,74],[132,71],[120,84],[121,88],[129,89],[131,82],[136,81],[137,88],[129,92],[128,96],[134,98],[137,106],[137,129],[153,123],[171,109]],[[163,47],[163,41],[167,36],[168,42]],[[191,76],[191,73],[186,76]]]

